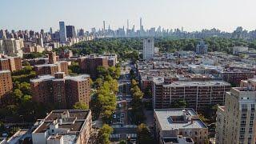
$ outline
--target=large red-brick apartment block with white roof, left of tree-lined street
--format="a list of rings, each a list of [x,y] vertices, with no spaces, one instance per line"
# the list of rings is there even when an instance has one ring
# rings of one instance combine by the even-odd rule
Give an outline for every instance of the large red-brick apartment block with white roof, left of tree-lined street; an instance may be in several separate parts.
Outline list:
[[[74,77],[66,76],[64,72],[38,76],[30,80],[32,99],[35,102],[54,104],[66,109],[72,108],[76,102],[90,106],[90,76],[82,74]]]

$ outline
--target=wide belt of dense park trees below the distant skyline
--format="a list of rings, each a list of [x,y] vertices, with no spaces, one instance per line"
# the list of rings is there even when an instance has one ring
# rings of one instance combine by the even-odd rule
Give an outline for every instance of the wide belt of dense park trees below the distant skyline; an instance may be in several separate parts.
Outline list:
[[[248,46],[256,49],[256,41],[235,38],[210,37],[204,39],[198,38],[154,38],[155,46],[162,52],[175,52],[177,50],[195,51],[198,42],[205,41],[208,45],[208,51],[222,51],[232,54],[233,46]],[[64,46],[55,49],[58,53],[62,50],[72,50],[74,54],[118,54],[120,61],[132,59],[136,61],[139,58],[139,50],[142,50],[143,38],[95,38],[93,41],[79,42],[74,46]]]

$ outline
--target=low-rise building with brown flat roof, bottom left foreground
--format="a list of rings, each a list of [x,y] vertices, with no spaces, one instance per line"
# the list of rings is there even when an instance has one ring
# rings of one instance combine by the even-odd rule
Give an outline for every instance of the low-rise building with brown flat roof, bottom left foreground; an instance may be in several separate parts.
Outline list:
[[[53,110],[32,132],[32,141],[38,144],[87,143],[91,127],[90,110]]]

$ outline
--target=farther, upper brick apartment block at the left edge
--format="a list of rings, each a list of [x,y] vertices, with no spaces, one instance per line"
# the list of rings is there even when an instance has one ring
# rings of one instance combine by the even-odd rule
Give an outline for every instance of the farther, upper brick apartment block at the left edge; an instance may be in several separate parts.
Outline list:
[[[22,70],[22,58],[19,57],[8,57],[0,58],[0,70]]]

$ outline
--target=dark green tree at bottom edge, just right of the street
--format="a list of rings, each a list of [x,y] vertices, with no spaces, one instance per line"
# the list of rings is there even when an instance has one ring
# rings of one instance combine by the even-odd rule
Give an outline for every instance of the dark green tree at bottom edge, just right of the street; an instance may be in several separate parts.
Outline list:
[[[144,123],[140,124],[137,128],[137,142],[138,144],[154,143],[154,139],[150,134],[150,129]]]

